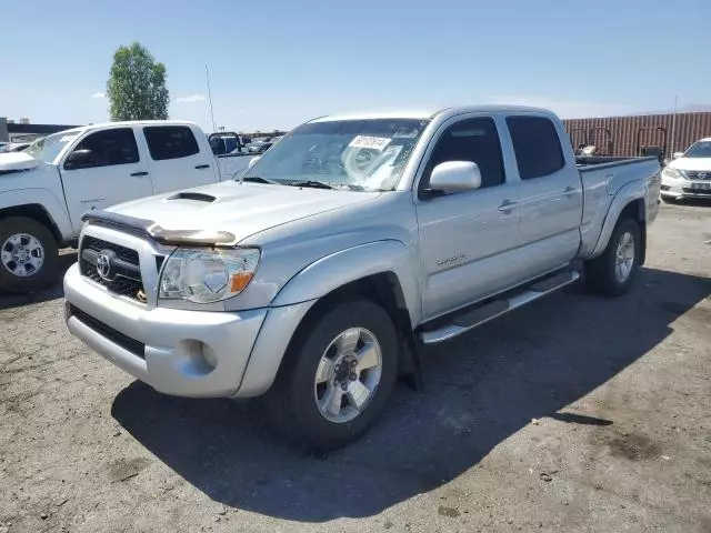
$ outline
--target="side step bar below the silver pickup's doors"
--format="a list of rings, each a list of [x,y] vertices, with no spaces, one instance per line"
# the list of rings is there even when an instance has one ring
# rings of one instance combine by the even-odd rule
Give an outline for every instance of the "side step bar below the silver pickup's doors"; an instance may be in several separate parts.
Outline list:
[[[509,291],[505,296],[501,296],[499,300],[493,300],[469,311],[463,311],[461,314],[455,314],[448,324],[437,330],[421,332],[420,339],[424,344],[437,344],[438,342],[447,341],[501,314],[569,285],[579,278],[580,273],[575,271],[560,272],[543,278],[529,285],[523,285],[518,292]]]

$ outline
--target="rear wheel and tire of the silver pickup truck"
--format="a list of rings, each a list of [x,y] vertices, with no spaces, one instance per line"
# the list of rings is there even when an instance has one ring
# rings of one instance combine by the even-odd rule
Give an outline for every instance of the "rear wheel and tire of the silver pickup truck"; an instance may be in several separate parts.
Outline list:
[[[619,296],[630,289],[642,254],[641,234],[639,223],[635,220],[622,219],[618,221],[602,255],[584,263],[585,284],[592,292],[605,296]],[[629,271],[627,269],[618,271],[618,251],[621,241],[625,239],[625,242],[629,243],[625,235],[631,235],[632,247],[630,249],[628,244],[622,254],[627,255],[627,259],[629,259],[629,253],[633,253],[633,257]],[[624,272],[627,275],[619,275]]]

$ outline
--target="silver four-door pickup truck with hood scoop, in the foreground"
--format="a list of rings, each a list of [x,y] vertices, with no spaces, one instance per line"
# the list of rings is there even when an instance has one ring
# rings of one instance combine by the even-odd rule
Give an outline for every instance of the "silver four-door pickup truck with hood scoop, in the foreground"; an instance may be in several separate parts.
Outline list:
[[[87,213],[67,324],[157,391],[266,395],[286,434],[334,449],[421,346],[574,282],[577,260],[624,293],[659,193],[657,159],[577,161],[542,109],[319,118],[236,181]]]

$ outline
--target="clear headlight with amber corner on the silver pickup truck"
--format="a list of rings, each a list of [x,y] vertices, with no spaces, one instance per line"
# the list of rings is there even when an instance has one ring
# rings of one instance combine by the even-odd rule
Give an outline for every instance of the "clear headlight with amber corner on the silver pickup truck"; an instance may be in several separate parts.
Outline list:
[[[179,248],[163,266],[158,298],[210,303],[234,296],[252,281],[259,257],[256,248]]]

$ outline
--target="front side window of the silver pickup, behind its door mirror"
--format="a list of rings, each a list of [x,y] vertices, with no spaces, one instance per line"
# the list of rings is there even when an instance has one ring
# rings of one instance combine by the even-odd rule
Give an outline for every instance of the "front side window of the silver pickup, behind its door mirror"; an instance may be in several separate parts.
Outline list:
[[[429,187],[432,169],[448,161],[471,161],[481,173],[481,189],[505,181],[503,155],[493,119],[467,119],[451,125],[437,141],[420,181],[420,189]]]

